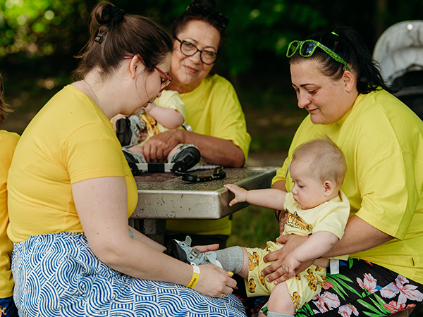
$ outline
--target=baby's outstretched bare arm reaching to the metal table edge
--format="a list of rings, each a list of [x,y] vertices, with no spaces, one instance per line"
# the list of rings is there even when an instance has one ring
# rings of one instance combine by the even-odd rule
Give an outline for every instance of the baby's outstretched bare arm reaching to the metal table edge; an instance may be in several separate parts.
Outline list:
[[[233,184],[223,185],[235,194],[235,198],[229,202],[229,206],[233,206],[238,202],[247,201],[247,203],[270,209],[283,209],[285,204],[286,192],[279,189],[256,189],[245,190]]]

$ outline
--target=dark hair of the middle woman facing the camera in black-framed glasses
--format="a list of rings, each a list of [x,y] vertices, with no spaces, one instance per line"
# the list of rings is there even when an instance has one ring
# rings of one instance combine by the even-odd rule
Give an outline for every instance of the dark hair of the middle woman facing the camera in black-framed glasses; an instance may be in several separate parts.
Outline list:
[[[197,8],[202,11],[202,13],[197,14],[196,11],[198,10],[192,10],[192,8]],[[219,19],[219,22],[216,21],[216,18]],[[216,10],[215,0],[192,1],[190,6],[186,8],[185,12],[176,18],[175,21],[173,21],[171,28],[173,39],[176,39],[176,35],[178,35],[185,28],[185,26],[193,20],[204,21],[209,23],[209,25],[212,25],[221,36],[219,48],[223,45],[223,36],[226,27],[228,26],[229,19],[226,15],[223,15]]]

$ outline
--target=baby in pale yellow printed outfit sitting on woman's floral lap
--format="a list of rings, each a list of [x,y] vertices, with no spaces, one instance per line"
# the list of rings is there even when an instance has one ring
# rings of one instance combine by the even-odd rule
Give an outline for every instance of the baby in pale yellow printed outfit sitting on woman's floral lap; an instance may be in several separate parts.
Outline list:
[[[247,201],[269,209],[285,210],[287,218],[283,235],[308,236],[306,242],[283,260],[283,270],[293,278],[275,285],[261,275],[263,268],[270,264],[263,261],[264,256],[283,247],[276,242],[267,242],[266,249],[229,247],[200,254],[198,257],[203,257],[204,261],[190,262],[213,263],[216,259],[217,265],[221,264],[226,271],[245,279],[248,297],[270,294],[269,302],[259,316],[293,316],[324,285],[329,259],[321,259],[321,256],[343,236],[350,213],[348,198],[340,189],[346,169],[341,149],[325,137],[295,149],[290,163],[294,186],[289,193],[278,189],[247,191],[235,185],[224,185],[235,194],[230,206]],[[348,256],[342,259],[348,259]],[[298,266],[309,260],[314,260],[312,266],[298,273]]]

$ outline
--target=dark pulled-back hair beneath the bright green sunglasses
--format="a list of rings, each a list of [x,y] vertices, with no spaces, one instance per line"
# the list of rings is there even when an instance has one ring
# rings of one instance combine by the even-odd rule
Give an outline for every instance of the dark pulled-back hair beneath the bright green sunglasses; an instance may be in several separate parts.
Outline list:
[[[341,56],[355,73],[357,78],[357,90],[360,94],[368,94],[377,89],[385,89],[392,92],[384,82],[376,61],[372,58],[367,46],[362,41],[360,35],[351,27],[338,27],[333,32],[319,32],[307,37],[314,39],[336,54]],[[335,61],[329,54],[318,48],[310,57],[302,57],[299,50],[290,58],[290,63],[295,63],[300,58],[312,58],[321,63],[321,72],[333,79],[340,79],[345,70],[345,66]]]

